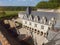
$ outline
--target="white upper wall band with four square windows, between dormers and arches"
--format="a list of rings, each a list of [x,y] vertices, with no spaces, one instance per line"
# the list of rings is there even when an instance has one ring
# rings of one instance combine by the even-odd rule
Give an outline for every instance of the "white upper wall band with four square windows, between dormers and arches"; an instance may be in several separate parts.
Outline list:
[[[44,25],[44,24],[40,24],[40,23],[36,23],[36,22],[32,22],[32,21],[28,21],[28,20],[22,20],[23,25],[31,27],[33,29],[37,29],[39,31],[43,31],[44,33],[46,33],[48,31],[48,27],[49,25]],[[25,21],[27,22],[27,24],[25,24]],[[31,22],[31,25],[29,25],[29,23]],[[37,27],[35,27],[35,24],[37,24]],[[44,26],[44,29],[41,29],[41,26]]]

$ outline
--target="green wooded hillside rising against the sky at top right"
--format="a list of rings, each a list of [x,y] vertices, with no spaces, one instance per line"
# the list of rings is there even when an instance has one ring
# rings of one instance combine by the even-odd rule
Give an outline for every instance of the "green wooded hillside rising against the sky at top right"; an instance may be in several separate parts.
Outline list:
[[[60,0],[49,0],[49,1],[41,1],[37,4],[37,8],[43,9],[56,9],[60,7]]]

